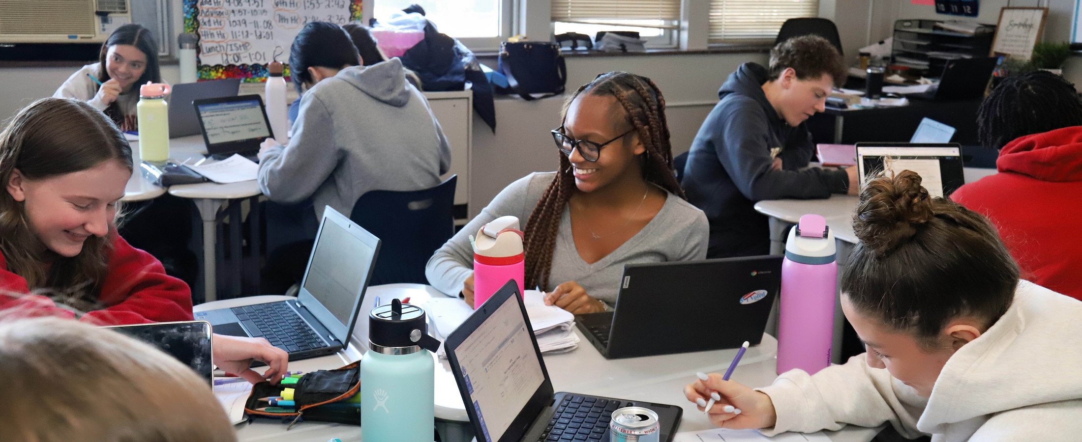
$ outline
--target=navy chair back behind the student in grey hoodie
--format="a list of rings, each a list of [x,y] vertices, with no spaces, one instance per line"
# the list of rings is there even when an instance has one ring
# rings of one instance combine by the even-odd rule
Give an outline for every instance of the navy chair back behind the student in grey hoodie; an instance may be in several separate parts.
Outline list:
[[[382,241],[369,285],[395,282],[427,284],[424,265],[454,233],[454,185],[451,175],[436,187],[372,190],[357,200],[349,219]]]

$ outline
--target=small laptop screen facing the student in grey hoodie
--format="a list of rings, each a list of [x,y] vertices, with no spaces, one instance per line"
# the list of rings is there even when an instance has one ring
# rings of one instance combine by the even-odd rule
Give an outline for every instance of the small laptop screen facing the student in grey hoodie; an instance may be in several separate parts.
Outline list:
[[[240,97],[243,98],[243,97]],[[270,136],[259,98],[197,104],[208,144]]]

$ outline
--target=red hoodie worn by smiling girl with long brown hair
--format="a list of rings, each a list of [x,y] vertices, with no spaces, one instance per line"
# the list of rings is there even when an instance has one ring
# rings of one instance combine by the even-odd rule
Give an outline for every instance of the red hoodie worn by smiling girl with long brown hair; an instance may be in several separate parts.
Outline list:
[[[98,297],[105,308],[90,311],[80,320],[97,325],[190,321],[192,291],[188,285],[166,274],[161,263],[149,253],[131,246],[116,232],[113,237],[113,253]],[[30,293],[26,280],[8,270],[3,255],[0,255],[0,291]],[[29,308],[30,311],[23,313],[28,316],[75,317],[74,312],[57,307],[45,296],[0,295],[0,310],[16,307]]]

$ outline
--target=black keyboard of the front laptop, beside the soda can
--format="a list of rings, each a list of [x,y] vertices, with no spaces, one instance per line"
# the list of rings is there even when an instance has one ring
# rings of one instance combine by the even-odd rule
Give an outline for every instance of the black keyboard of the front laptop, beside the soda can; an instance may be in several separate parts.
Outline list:
[[[608,431],[612,412],[631,402],[620,402],[578,394],[565,396],[538,439],[543,441],[599,441]]]

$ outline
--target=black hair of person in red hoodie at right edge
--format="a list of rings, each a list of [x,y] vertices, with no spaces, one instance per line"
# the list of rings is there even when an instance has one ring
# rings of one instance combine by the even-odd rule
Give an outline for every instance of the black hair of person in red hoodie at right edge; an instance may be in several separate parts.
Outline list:
[[[1082,99],[1073,84],[1046,70],[1007,77],[977,109],[977,139],[997,150],[1021,136],[1072,125],[1082,125]]]

